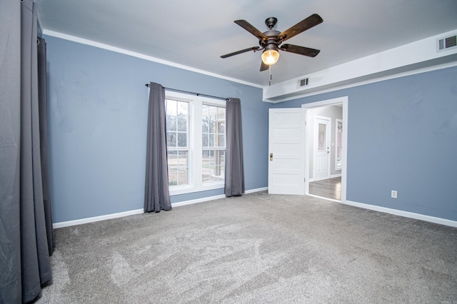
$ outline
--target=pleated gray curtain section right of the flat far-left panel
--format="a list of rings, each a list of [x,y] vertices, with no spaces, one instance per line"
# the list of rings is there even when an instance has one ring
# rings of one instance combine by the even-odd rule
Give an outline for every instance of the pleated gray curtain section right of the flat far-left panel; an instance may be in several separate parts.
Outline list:
[[[21,2],[21,273],[22,301],[34,300],[52,279],[43,184],[38,102],[36,6]]]

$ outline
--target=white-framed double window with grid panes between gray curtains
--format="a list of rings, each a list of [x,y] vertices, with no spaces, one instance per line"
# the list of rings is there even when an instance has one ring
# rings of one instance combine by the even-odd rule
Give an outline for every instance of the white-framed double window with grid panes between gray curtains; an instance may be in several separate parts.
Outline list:
[[[225,101],[166,91],[171,195],[224,188]]]

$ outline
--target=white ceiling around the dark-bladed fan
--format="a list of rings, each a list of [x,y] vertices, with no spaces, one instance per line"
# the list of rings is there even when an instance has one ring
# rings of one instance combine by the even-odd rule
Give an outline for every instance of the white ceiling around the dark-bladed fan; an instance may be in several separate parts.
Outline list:
[[[268,85],[259,72],[261,52],[220,56],[258,46],[233,23],[245,19],[260,31],[276,30],[317,13],[323,23],[287,41],[320,49],[315,58],[281,52],[273,83],[457,29],[457,0],[36,0],[41,26],[193,69]]]

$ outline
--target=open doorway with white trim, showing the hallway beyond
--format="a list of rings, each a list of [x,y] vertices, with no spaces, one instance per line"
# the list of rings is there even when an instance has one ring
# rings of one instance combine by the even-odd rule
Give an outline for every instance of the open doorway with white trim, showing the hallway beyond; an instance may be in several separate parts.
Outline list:
[[[348,97],[306,103],[302,108],[306,109],[305,194],[346,201]]]

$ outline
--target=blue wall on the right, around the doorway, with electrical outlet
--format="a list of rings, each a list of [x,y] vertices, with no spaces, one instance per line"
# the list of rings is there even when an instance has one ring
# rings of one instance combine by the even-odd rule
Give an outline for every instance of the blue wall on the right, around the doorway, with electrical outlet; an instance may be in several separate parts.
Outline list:
[[[340,96],[348,96],[347,200],[457,221],[457,67],[275,107]]]

